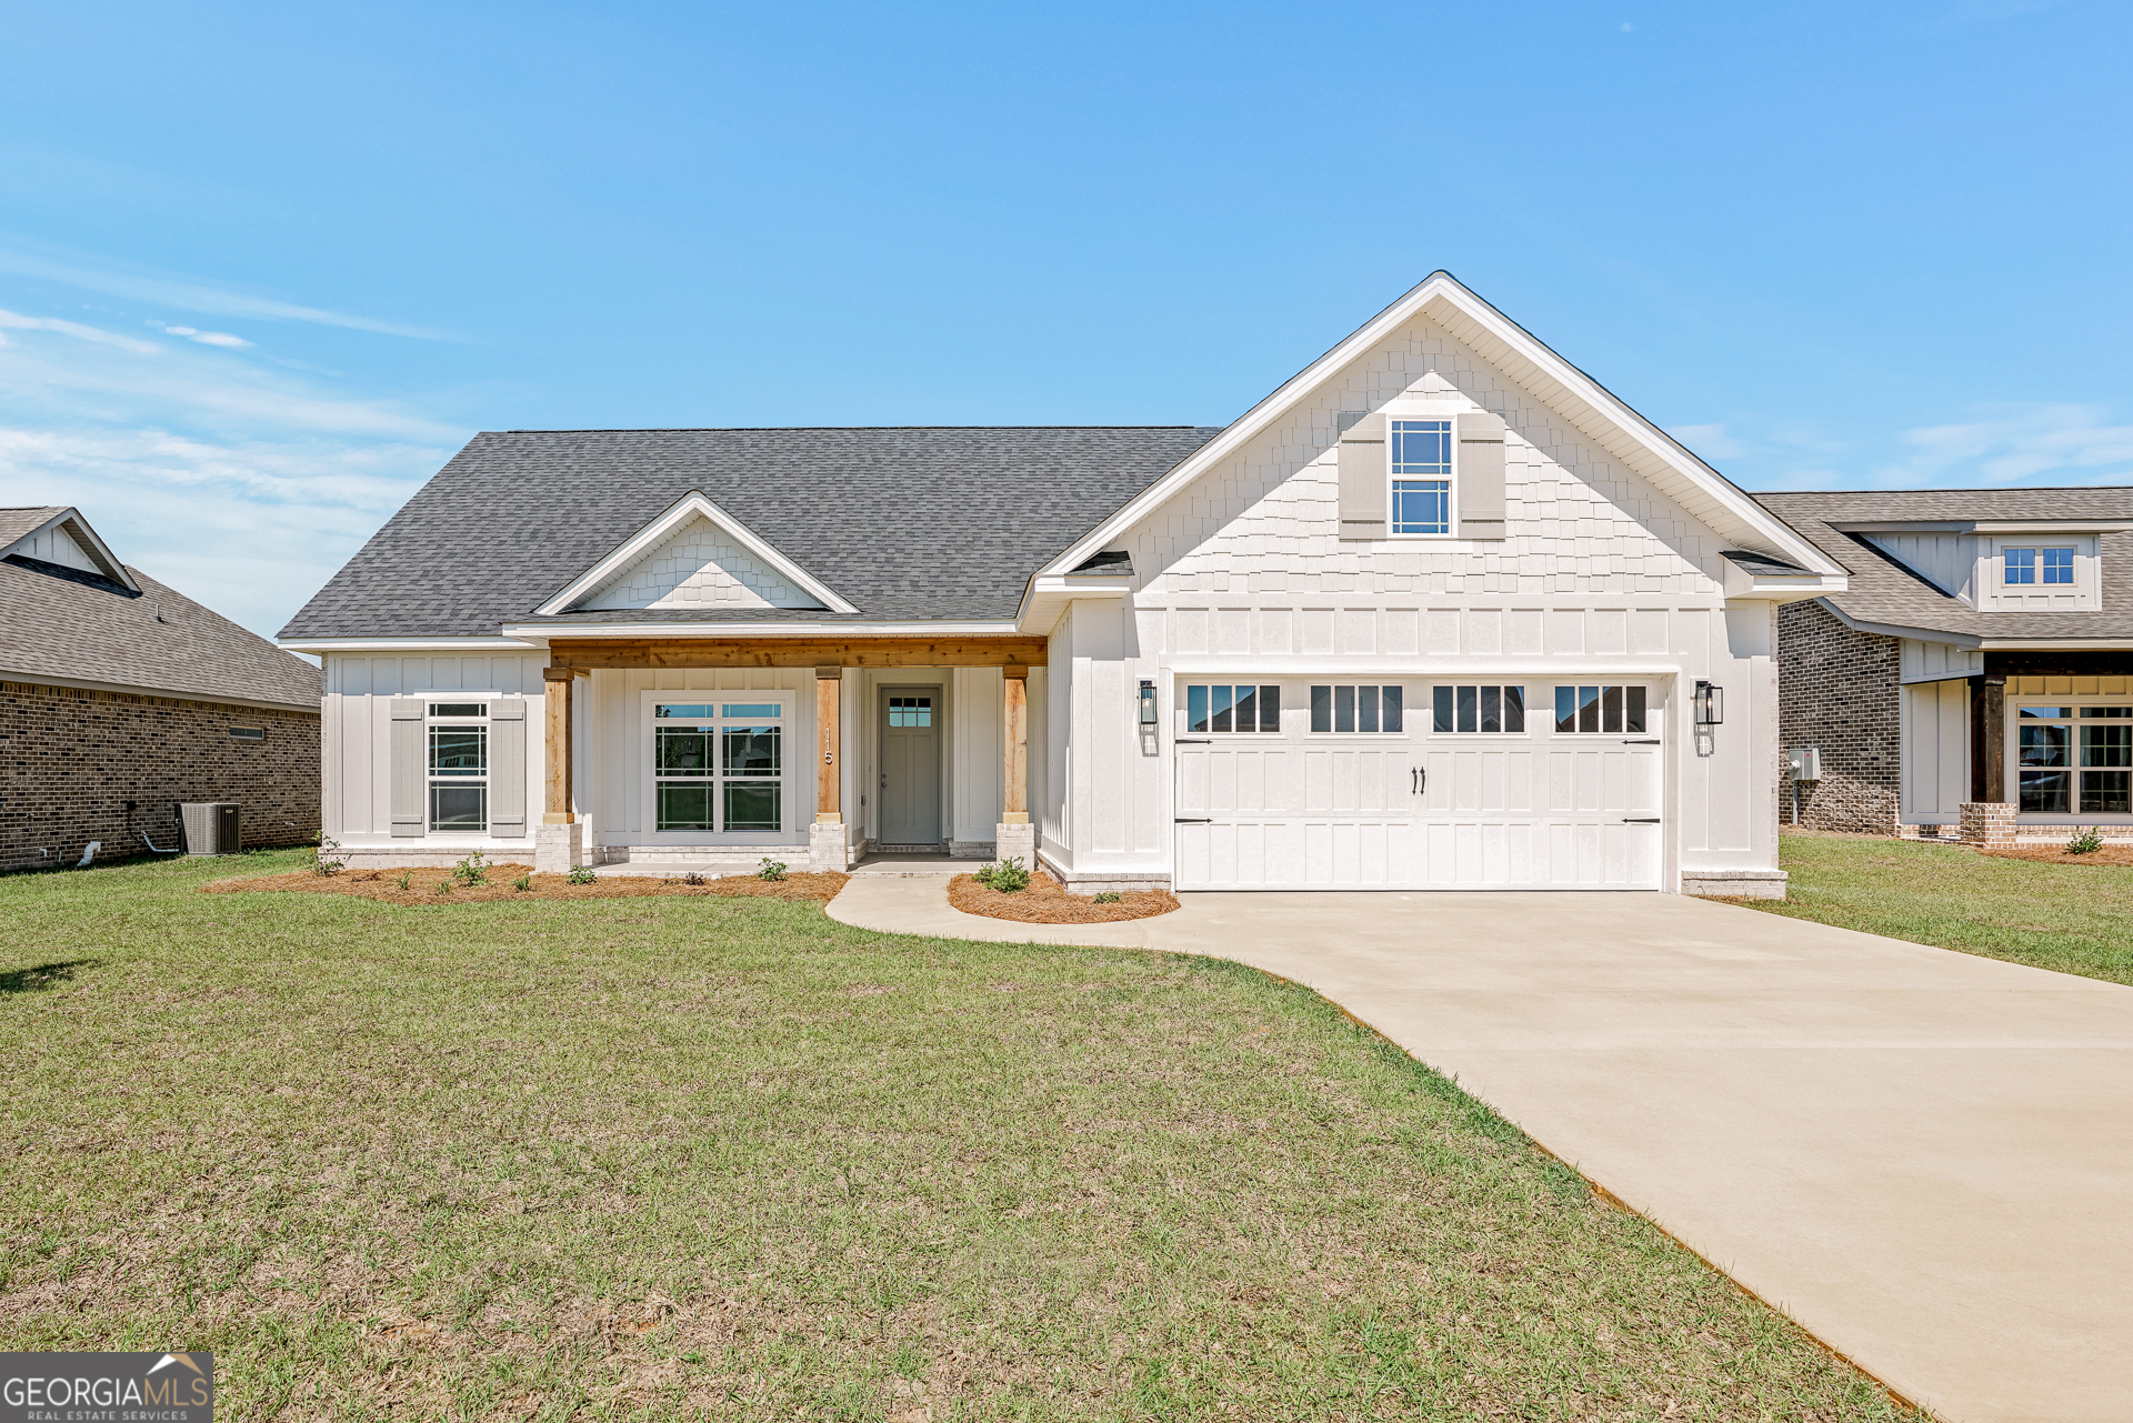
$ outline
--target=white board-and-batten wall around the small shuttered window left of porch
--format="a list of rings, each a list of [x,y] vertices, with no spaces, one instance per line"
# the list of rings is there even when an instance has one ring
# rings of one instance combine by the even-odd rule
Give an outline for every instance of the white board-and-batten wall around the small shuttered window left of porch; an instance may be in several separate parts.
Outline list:
[[[326,836],[350,845],[395,845],[392,836],[392,702],[435,698],[488,695],[529,698],[525,738],[525,779],[520,806],[542,804],[540,698],[542,655],[501,657],[371,657],[363,653],[326,653],[326,691],[320,704],[324,742],[324,774],[320,783]],[[427,708],[424,708],[427,710]],[[495,753],[493,753],[495,755]],[[491,796],[497,792],[493,789]],[[510,800],[503,802],[510,806]],[[420,811],[427,828],[427,796]],[[533,811],[538,819],[538,811]],[[414,836],[399,836],[410,849]],[[474,845],[478,836],[424,836],[437,845]],[[493,836],[491,836],[493,838]],[[486,843],[486,841],[480,841]],[[520,858],[533,853],[531,824],[512,841]]]

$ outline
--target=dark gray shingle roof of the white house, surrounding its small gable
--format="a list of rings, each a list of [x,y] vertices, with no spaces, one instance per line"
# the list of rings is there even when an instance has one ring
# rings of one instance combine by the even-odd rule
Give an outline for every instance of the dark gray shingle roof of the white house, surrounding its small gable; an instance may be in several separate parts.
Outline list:
[[[689,491],[857,608],[747,621],[1007,619],[1037,567],[1220,427],[503,431],[476,435],[282,629],[471,636],[533,608]],[[557,623],[704,621],[574,612]],[[717,621],[744,621],[719,612]]]

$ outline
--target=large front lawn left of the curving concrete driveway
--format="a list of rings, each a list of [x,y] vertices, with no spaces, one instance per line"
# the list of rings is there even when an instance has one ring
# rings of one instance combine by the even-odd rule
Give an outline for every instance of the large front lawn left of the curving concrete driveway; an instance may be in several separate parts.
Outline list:
[[[0,879],[0,1346],[226,1419],[1911,1417],[1305,990],[815,905]]]

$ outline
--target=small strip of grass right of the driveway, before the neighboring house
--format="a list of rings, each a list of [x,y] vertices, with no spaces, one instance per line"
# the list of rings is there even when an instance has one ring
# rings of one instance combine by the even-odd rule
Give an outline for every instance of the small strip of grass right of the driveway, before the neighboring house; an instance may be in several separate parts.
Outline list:
[[[1787,896],[1751,909],[2133,984],[2133,866],[1794,832],[1779,864]]]

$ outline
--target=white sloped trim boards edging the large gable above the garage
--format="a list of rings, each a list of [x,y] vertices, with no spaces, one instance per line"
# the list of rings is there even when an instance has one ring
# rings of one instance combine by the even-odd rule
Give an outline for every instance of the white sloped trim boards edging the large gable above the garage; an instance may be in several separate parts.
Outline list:
[[[1318,386],[1367,354],[1408,320],[1427,314],[1425,307],[1431,305],[1438,305],[1446,311],[1446,316],[1455,318],[1450,322],[1442,322],[1455,337],[1476,346],[1474,335],[1470,333],[1478,329],[1485,337],[1489,337],[1489,343],[1502,348],[1504,354],[1510,356],[1510,361],[1504,361],[1497,352],[1480,350],[1485,358],[1495,365],[1531,367],[1540,380],[1525,380],[1519,369],[1506,369],[1506,375],[1527,386],[1536,399],[1555,407],[1559,414],[1570,418],[1572,425],[1583,429],[1583,422],[1578,420],[1581,412],[1566,410],[1563,405],[1583,405],[1585,412],[1595,416],[1598,422],[1619,431],[1632,450],[1645,457],[1642,461],[1625,463],[1632,463],[1632,467],[1647,465],[1638,467],[1638,474],[1653,478],[1653,482],[1666,489],[1666,493],[1681,499],[1687,512],[1702,518],[1713,527],[1713,531],[1736,544],[1764,544],[1766,550],[1777,553],[1787,563],[1800,565],[1805,572],[1839,580],[1847,576],[1845,570],[1830,559],[1830,555],[1815,548],[1770,510],[1764,510],[1760,503],[1749,499],[1743,489],[1691,454],[1672,435],[1630,410],[1630,405],[1617,399],[1606,386],[1549,350],[1529,331],[1476,297],[1448,271],[1433,271],[1408,294],[1363,322],[1363,326],[1359,326],[1350,337],[1297,371],[1278,390],[1237,416],[1237,420],[1233,420],[1220,435],[1182,459],[1169,469],[1169,474],[1075,540],[1052,563],[1037,570],[1030,578],[1030,587],[1035,589],[1037,578],[1045,574],[1073,570],[1092,553],[1098,553],[1105,544],[1116,542],[1126,529],[1156,512],[1194,478],[1241,450],[1246,442],[1254,439],[1269,425],[1286,416]],[[1585,433],[1591,435],[1591,431]],[[1606,446],[1608,442],[1602,439],[1602,444]],[[1619,450],[1610,452],[1621,454]],[[1028,595],[1030,593],[1024,591],[1024,606],[1028,604]]]

